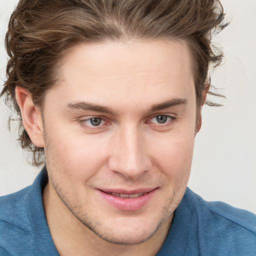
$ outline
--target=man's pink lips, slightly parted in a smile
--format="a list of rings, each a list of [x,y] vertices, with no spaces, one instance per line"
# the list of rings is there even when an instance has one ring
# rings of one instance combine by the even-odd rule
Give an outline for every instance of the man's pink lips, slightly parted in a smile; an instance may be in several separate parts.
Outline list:
[[[123,189],[97,189],[99,194],[103,197],[103,199],[109,203],[110,205],[114,206],[120,210],[132,211],[142,208],[146,205],[154,193],[156,192],[157,188],[141,188],[141,189],[134,189],[134,190],[123,190]],[[119,197],[112,194],[108,194],[106,192],[113,192],[113,193],[122,193],[122,194],[136,194],[136,193],[144,193],[146,194],[140,195],[138,197]]]

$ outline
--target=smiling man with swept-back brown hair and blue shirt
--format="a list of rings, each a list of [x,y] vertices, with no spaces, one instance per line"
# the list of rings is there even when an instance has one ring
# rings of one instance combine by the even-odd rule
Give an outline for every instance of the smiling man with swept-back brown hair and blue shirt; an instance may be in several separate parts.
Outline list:
[[[187,188],[221,54],[214,0],[20,0],[2,95],[34,183],[1,198],[1,255],[254,255],[256,217]]]

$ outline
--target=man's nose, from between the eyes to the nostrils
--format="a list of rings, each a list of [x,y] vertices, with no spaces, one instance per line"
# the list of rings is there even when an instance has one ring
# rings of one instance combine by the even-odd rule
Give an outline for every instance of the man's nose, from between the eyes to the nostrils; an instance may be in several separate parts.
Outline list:
[[[124,127],[112,138],[108,167],[126,178],[135,179],[151,169],[146,138],[137,127]]]

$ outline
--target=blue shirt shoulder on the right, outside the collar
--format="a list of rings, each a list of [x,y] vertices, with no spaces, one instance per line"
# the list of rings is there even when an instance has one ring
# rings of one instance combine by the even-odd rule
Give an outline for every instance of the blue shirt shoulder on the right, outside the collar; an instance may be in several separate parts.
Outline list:
[[[197,218],[201,247],[220,255],[255,255],[256,215],[220,201],[208,202],[187,189]],[[204,248],[205,247],[205,248]],[[209,251],[210,252],[210,251]]]

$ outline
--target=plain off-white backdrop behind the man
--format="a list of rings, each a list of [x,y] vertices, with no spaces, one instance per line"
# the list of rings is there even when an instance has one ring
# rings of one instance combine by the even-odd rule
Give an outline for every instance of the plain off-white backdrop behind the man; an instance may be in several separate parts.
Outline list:
[[[16,2],[0,0],[0,89],[7,61],[4,33]],[[221,100],[223,107],[203,107],[188,186],[206,200],[256,213],[256,0],[222,4],[231,23],[213,38],[225,59],[211,78],[227,99]],[[8,131],[8,113],[0,99],[0,195],[31,184],[39,171],[26,162],[15,132]]]

